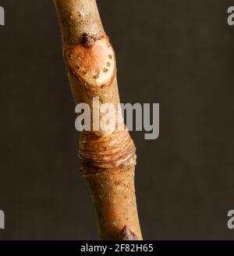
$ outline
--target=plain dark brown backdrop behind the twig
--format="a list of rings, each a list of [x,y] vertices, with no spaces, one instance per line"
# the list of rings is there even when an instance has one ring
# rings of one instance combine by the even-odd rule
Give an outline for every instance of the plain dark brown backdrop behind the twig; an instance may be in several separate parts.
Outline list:
[[[233,239],[234,27],[225,0],[100,0],[122,103],[160,103],[137,144],[145,239]],[[0,239],[97,239],[50,0],[0,0]]]

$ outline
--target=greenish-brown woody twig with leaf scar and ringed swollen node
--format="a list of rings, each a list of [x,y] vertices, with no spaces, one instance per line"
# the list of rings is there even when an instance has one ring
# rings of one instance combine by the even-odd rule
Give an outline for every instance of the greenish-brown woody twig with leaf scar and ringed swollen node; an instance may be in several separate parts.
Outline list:
[[[87,103],[91,113],[99,113],[93,102],[98,97],[101,103],[112,103],[118,113],[115,52],[102,27],[96,1],[53,1],[75,103]],[[94,118],[93,114],[92,124]],[[115,120],[116,126],[124,127],[122,119]],[[99,236],[101,240],[142,240],[134,186],[136,149],[129,132],[126,128],[92,131],[81,132],[79,156]]]

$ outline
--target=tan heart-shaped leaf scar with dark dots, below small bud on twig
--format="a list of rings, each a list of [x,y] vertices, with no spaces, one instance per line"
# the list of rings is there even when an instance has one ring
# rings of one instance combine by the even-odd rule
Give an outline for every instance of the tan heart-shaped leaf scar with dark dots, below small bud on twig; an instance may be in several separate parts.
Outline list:
[[[97,39],[91,47],[69,46],[65,55],[76,78],[92,88],[108,85],[115,75],[115,53],[106,37]]]

